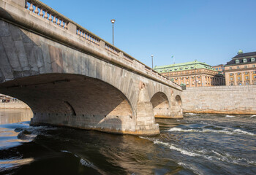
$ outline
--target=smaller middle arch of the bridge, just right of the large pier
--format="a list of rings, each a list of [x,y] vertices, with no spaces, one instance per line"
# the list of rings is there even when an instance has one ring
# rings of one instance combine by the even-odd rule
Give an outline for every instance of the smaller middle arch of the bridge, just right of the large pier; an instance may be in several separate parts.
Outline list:
[[[170,111],[170,102],[165,93],[157,92],[152,96],[151,103],[155,117],[167,116]]]

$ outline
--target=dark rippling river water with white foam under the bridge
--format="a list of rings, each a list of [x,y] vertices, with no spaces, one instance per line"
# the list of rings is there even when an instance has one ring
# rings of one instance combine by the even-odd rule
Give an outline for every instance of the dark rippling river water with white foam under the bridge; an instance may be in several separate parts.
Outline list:
[[[256,115],[157,119],[153,137],[30,126],[29,117],[0,110],[0,174],[256,174]]]

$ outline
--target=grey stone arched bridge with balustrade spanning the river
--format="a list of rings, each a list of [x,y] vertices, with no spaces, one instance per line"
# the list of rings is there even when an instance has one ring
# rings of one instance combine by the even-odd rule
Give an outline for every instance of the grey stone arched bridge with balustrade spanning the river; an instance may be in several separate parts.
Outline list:
[[[182,117],[181,88],[38,0],[0,0],[0,93],[31,124],[154,135]]]

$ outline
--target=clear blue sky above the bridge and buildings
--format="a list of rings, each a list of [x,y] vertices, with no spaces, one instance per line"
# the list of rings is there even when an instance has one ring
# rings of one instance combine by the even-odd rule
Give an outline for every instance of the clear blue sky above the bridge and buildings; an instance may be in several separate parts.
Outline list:
[[[151,66],[227,63],[239,49],[256,51],[255,0],[41,0]]]

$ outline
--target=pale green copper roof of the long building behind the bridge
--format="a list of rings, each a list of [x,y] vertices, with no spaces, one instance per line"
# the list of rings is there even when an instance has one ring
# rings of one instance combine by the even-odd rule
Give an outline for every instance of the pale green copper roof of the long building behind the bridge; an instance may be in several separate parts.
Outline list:
[[[192,70],[192,69],[209,69],[213,71],[217,71],[213,69],[210,65],[206,63],[202,63],[200,61],[191,61],[187,63],[176,63],[170,64],[166,66],[155,66],[154,70],[158,71],[159,73],[164,72],[173,72],[173,71],[184,71],[184,70]]]

